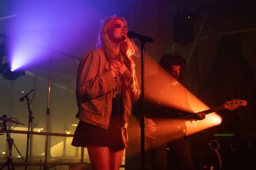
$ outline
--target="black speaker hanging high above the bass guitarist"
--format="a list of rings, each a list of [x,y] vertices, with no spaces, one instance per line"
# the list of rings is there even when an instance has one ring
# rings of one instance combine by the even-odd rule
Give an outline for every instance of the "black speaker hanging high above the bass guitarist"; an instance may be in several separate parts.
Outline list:
[[[187,45],[193,42],[194,15],[192,11],[180,9],[174,17],[174,43]]]

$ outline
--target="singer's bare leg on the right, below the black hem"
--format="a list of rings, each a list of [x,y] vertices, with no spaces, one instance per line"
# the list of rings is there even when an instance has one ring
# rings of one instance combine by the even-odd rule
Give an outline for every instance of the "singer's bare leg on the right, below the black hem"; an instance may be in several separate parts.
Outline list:
[[[110,169],[119,170],[124,155],[124,149],[121,151],[110,152]]]

